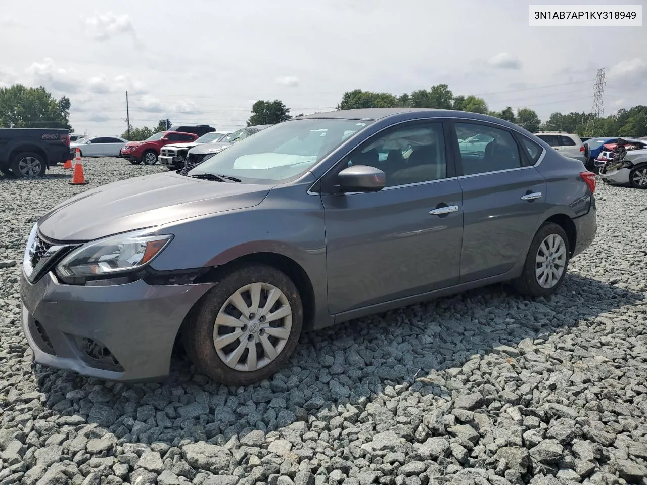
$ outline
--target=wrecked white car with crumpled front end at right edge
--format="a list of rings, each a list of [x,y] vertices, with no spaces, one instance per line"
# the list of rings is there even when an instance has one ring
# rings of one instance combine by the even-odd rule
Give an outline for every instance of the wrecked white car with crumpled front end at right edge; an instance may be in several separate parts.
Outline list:
[[[595,160],[602,163],[600,178],[608,184],[647,189],[647,148],[624,138],[605,147],[609,151],[602,151]]]

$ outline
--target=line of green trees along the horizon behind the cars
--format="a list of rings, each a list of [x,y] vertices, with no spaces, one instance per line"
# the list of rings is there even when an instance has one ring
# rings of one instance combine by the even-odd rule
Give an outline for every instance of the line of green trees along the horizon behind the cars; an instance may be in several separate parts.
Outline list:
[[[389,94],[355,89],[345,92],[336,109],[379,108],[379,107],[421,107],[471,111],[496,116],[524,127],[532,133],[537,131],[567,131],[580,136],[647,136],[647,106],[636,105],[630,109],[619,109],[616,113],[591,123],[591,115],[554,112],[542,122],[536,111],[528,107],[511,106],[501,111],[490,111],[487,102],[478,96],[455,95],[448,85],[438,84],[428,91],[419,89],[410,94]],[[45,87],[25,87],[15,84],[0,89],[0,127],[16,128],[66,128],[73,133],[69,122],[71,102],[67,96],[56,99]],[[258,100],[252,105],[247,125],[272,125],[298,118],[281,100]],[[130,127],[122,138],[132,141],[145,140],[157,131],[166,129],[165,120],[159,120],[155,127]]]

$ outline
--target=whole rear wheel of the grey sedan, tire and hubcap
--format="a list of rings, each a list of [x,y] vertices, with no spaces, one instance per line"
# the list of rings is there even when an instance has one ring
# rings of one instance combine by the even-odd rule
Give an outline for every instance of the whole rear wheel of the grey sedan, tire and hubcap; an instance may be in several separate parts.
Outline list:
[[[521,276],[512,285],[523,295],[551,296],[564,283],[569,253],[562,226],[545,222],[532,239]]]

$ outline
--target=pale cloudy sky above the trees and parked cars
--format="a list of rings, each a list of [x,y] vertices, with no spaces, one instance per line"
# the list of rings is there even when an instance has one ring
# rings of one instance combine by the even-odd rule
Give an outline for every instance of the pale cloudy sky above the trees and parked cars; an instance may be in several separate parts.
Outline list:
[[[571,4],[534,1],[533,4]],[[626,1],[589,0],[587,5]],[[631,4],[645,5],[646,0]],[[529,27],[520,0],[58,0],[3,2],[0,87],[71,100],[75,133],[131,124],[246,125],[252,104],[331,111],[346,91],[400,95],[446,83],[491,110],[591,111],[647,104],[643,27]],[[647,8],[643,6],[644,16]]]

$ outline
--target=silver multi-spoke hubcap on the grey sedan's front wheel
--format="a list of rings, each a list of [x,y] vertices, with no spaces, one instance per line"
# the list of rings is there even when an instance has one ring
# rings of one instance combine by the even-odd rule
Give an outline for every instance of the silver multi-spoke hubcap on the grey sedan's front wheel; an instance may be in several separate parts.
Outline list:
[[[269,283],[245,285],[215,318],[215,351],[236,371],[256,371],[278,357],[291,329],[292,307],[281,290]]]

